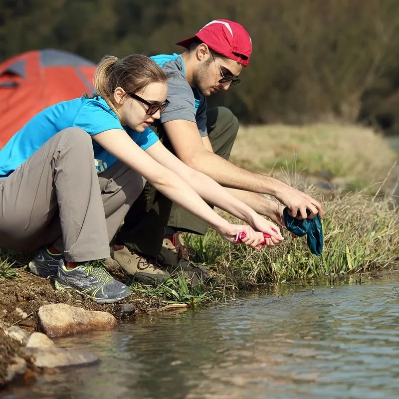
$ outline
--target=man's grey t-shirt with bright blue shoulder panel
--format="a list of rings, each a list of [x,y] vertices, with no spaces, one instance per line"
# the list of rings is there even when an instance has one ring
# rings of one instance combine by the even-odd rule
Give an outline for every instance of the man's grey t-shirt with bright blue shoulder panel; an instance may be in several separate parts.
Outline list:
[[[206,98],[197,89],[193,89],[187,81],[182,56],[160,54],[151,58],[170,75],[168,100],[171,103],[162,113],[161,123],[177,119],[195,122],[201,137],[207,136]]]

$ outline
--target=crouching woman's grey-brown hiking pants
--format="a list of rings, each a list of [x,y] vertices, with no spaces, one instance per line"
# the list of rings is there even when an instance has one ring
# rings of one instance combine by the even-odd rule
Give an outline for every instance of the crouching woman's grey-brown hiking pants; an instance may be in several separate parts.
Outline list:
[[[69,262],[106,258],[144,184],[119,161],[97,175],[90,135],[62,130],[0,179],[0,248],[54,244]]]

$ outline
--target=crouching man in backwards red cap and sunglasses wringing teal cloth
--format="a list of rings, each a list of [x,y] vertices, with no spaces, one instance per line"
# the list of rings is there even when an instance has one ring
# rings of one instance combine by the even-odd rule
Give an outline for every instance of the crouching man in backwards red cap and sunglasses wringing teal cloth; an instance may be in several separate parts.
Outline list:
[[[248,65],[252,51],[248,32],[236,22],[217,19],[177,44],[186,51],[152,57],[170,74],[170,105],[156,126],[164,145],[184,163],[210,176],[279,225],[283,225],[283,206],[261,194],[276,197],[289,207],[292,216],[306,218],[307,209],[309,217],[317,213],[323,216],[321,204],[308,195],[229,162],[238,121],[226,108],[206,110],[207,96],[240,82],[238,76]],[[203,221],[147,185],[125,218],[113,258],[130,275],[162,281],[176,267],[192,267],[179,232],[205,234],[206,229]]]

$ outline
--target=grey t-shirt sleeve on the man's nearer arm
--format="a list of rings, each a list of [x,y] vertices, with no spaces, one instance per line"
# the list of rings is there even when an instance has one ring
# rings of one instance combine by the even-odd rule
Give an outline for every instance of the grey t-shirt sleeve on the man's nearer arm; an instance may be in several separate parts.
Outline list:
[[[168,100],[170,104],[162,113],[162,123],[177,119],[197,123],[193,90],[186,78],[179,73],[172,72],[168,78]]]

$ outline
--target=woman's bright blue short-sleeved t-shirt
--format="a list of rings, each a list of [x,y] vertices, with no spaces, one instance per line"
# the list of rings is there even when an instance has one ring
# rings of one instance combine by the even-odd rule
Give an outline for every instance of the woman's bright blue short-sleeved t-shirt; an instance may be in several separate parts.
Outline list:
[[[78,127],[91,136],[106,130],[123,129],[143,150],[158,141],[150,129],[142,133],[122,126],[118,116],[102,97],[76,98],[52,105],[35,115],[19,132],[15,133],[0,150],[0,177],[11,174],[36,150],[59,131]],[[94,163],[98,173],[104,172],[117,159],[93,141]]]

